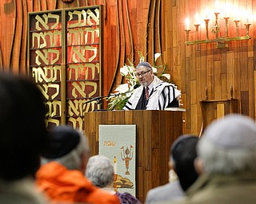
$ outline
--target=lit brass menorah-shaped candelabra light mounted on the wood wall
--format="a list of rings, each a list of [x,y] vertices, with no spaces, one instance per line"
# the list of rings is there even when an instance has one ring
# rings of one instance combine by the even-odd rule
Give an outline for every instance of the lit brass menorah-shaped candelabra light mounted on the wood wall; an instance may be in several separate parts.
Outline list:
[[[225,19],[225,37],[220,37],[220,23],[219,23],[219,12],[214,12],[214,26],[212,26],[212,30],[211,32],[214,33],[214,39],[209,39],[209,22],[210,22],[210,18],[208,16],[206,16],[206,18],[204,19],[204,22],[206,24],[206,39],[204,40],[199,40],[198,39],[198,29],[200,26],[200,21],[198,21],[198,13],[195,15],[195,23],[194,23],[194,27],[195,27],[195,41],[189,41],[190,38],[190,19],[186,18],[185,21],[185,32],[186,32],[186,41],[185,44],[186,45],[198,45],[198,44],[203,44],[203,43],[210,43],[210,42],[215,42],[216,43],[216,47],[217,48],[227,48],[228,47],[228,42],[229,41],[244,41],[244,40],[250,40],[250,36],[249,36],[249,29],[250,29],[250,23],[249,23],[249,18],[246,18],[246,23],[244,24],[244,26],[246,26],[246,36],[239,36],[238,35],[238,26],[240,24],[240,20],[235,19],[234,20],[234,26],[236,27],[236,36],[235,37],[229,37],[228,36],[228,24],[230,21],[230,17],[224,17]]]

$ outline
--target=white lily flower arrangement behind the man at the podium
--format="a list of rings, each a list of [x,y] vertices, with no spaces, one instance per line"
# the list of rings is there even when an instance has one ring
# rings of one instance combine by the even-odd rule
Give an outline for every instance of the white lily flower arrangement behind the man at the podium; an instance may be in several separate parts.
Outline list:
[[[138,52],[139,54],[139,62],[145,61],[145,57],[142,55],[142,53]],[[170,74],[165,73],[166,72],[166,65],[164,65],[162,72],[158,75],[158,68],[162,67],[162,65],[157,66],[156,62],[158,60],[158,57],[161,56],[161,53],[155,53],[154,54],[154,65],[152,65],[153,73],[154,75],[158,76],[161,80],[169,82],[170,80]],[[118,87],[114,90],[114,94],[110,94],[109,97],[107,97],[106,100],[109,101],[107,105],[108,110],[122,110],[122,108],[126,105],[126,102],[129,100],[130,96],[134,92],[134,86],[138,84],[138,79],[136,77],[135,69],[136,67],[134,64],[128,59],[129,65],[124,65],[120,69],[120,73],[123,77],[126,78],[126,84],[120,84]]]

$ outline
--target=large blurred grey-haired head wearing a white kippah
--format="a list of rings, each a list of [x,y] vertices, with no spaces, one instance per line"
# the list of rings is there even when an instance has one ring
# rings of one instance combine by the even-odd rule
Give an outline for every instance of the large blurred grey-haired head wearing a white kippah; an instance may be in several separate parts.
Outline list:
[[[196,166],[208,174],[256,171],[256,126],[233,114],[210,124],[198,143]]]

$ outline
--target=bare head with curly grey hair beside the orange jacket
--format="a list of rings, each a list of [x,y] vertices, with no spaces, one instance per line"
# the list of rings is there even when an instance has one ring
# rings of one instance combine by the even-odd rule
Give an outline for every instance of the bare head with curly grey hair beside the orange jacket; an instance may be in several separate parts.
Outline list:
[[[90,157],[86,166],[86,178],[100,188],[110,186],[114,182],[114,167],[104,155]]]

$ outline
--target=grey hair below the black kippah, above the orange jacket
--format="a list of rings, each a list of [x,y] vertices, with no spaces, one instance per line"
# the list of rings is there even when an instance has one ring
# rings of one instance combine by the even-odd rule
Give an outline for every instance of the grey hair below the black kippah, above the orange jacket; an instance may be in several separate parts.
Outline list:
[[[80,141],[78,146],[74,148],[74,150],[70,151],[68,154],[56,158],[56,159],[46,159],[42,158],[41,163],[49,163],[49,162],[57,162],[61,163],[63,166],[70,170],[81,170],[82,167],[82,156],[87,155],[89,157],[90,149],[88,145],[88,141],[86,135],[84,135],[81,131],[78,131],[80,136]]]

